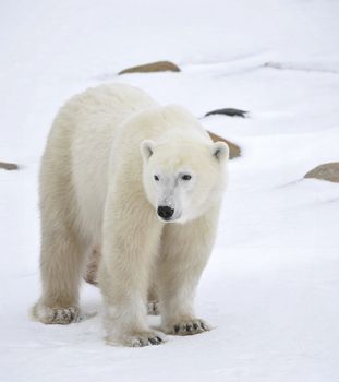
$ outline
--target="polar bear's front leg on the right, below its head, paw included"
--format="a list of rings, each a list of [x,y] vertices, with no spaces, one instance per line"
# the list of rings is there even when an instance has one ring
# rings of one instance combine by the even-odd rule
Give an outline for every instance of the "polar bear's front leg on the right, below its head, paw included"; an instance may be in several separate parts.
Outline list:
[[[162,330],[167,334],[192,335],[210,326],[194,312],[195,290],[215,240],[216,218],[201,217],[164,229],[158,265]]]

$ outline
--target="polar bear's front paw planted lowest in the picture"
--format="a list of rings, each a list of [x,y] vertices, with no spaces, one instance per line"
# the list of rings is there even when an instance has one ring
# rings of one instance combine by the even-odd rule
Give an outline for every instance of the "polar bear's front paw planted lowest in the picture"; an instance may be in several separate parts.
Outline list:
[[[119,339],[112,338],[109,335],[106,337],[106,343],[113,346],[143,347],[149,345],[160,345],[166,341],[162,333],[157,332],[141,332],[131,335],[124,335]]]

